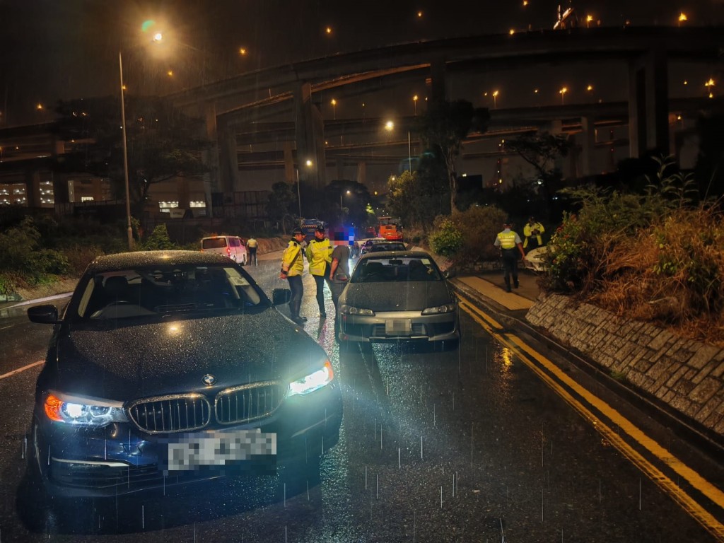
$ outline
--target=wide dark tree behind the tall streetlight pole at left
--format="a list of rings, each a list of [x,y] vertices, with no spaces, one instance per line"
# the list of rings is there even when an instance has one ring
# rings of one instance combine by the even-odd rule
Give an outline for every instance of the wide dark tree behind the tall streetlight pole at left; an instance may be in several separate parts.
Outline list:
[[[126,96],[128,185],[138,214],[153,185],[174,177],[203,174],[202,153],[211,142],[203,121],[187,117],[158,97]],[[56,131],[75,147],[57,165],[62,171],[80,171],[110,177],[114,193],[124,193],[123,137],[117,98],[61,101]]]

